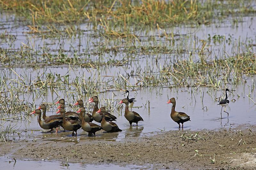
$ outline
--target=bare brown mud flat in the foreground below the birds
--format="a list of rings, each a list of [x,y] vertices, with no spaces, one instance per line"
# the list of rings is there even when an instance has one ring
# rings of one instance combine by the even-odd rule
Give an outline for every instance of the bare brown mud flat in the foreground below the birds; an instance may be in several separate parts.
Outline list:
[[[86,164],[146,165],[152,169],[255,169],[256,129],[177,130],[124,142],[0,143],[0,155],[16,159]],[[211,159],[212,158],[212,159]],[[214,160],[215,159],[215,160]]]

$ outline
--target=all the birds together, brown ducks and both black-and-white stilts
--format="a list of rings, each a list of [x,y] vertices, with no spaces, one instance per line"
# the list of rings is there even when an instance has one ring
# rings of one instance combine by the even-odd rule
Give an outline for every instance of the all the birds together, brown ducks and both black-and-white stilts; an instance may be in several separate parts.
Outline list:
[[[227,91],[229,91],[229,89],[226,89],[225,91],[226,91],[226,98],[224,100],[221,100],[219,103],[222,106],[221,112],[222,112],[222,108],[224,106],[226,108],[226,106],[229,104],[228,95],[227,95]],[[135,98],[131,98],[131,99],[129,98],[128,90],[126,90],[125,93],[127,93],[127,97],[121,100],[118,104],[125,104],[124,117],[126,118],[126,120],[128,120],[130,125],[132,126],[132,123],[136,123],[136,125],[138,126],[138,122],[144,121],[144,120],[139,115],[139,113],[129,110],[129,107],[132,107],[134,102],[136,102],[136,100]],[[88,132],[88,135],[95,135],[95,133],[101,129],[105,130],[106,132],[122,131],[120,128],[118,128],[117,124],[113,122],[113,121],[116,121],[117,119],[116,116],[107,112],[105,107],[101,107],[99,109],[98,107],[99,98],[97,96],[91,97],[88,100],[88,102],[95,104],[92,111],[92,115],[89,114],[84,108],[83,100],[78,100],[76,104],[74,104],[79,106],[79,110],[77,112],[71,112],[71,111],[66,112],[64,99],[60,99],[59,101],[56,102],[56,104],[60,104],[59,107],[57,107],[57,109],[59,109],[56,112],[57,115],[46,116],[45,104],[41,104],[35,111],[33,111],[30,114],[38,114],[38,117],[39,117],[38,123],[40,127],[43,129],[51,129],[49,132],[54,131],[53,128],[56,128],[56,134],[60,126],[64,129],[64,131],[65,130],[73,131],[72,135],[77,135],[77,130],[80,128],[82,128],[85,132]],[[184,112],[175,111],[175,105],[176,105],[175,98],[172,97],[171,99],[169,99],[167,104],[169,103],[172,103],[172,111],[171,111],[172,120],[179,124],[179,128],[181,123],[183,128],[183,123],[190,121],[190,116],[188,116]],[[41,110],[43,110],[43,120],[41,119],[41,114],[42,114]],[[224,112],[225,112],[225,109],[224,109]],[[60,113],[60,115],[58,113]],[[222,115],[221,115],[221,118],[222,118]],[[100,125],[92,123],[93,120],[95,122],[100,123]]]

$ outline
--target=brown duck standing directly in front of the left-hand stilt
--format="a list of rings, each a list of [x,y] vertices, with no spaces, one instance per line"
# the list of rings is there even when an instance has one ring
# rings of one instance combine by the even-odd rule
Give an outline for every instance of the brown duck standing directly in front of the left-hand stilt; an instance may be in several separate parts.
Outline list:
[[[137,112],[131,112],[129,111],[129,101],[128,99],[124,98],[121,100],[118,104],[125,104],[125,111],[124,111],[124,117],[129,121],[130,125],[132,126],[132,123],[136,123],[138,126],[138,121],[144,121],[142,117]]]

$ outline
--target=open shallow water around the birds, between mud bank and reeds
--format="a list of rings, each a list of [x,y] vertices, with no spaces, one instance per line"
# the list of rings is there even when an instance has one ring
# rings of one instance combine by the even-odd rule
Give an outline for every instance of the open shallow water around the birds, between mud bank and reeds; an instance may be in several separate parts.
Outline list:
[[[256,105],[246,96],[251,93],[251,98],[255,99],[256,94],[255,90],[250,89],[251,82],[254,81],[255,78],[249,78],[247,83],[244,85],[239,85],[234,88],[233,86],[229,86],[228,88],[233,91],[233,94],[229,94],[230,103],[227,106],[226,111],[229,112],[229,117],[227,117],[227,113],[222,110],[222,117],[220,118],[220,110],[221,106],[217,105],[218,102],[214,101],[212,96],[224,97],[224,94],[220,90],[212,90],[208,88],[201,88],[200,90],[193,91],[194,95],[191,96],[191,88],[177,88],[177,89],[169,89],[169,88],[152,88],[152,89],[140,89],[130,92],[130,97],[135,97],[137,102],[134,106],[139,108],[132,108],[132,111],[138,112],[144,121],[140,121],[138,123],[138,127],[135,124],[130,127],[129,122],[124,117],[124,107],[121,110],[117,110],[118,112],[113,112],[117,117],[116,124],[122,129],[122,132],[116,133],[106,133],[103,130],[101,133],[97,133],[96,136],[88,137],[87,133],[82,129],[79,129],[78,135],[76,137],[71,136],[71,132],[66,131],[63,132],[63,129],[60,129],[57,135],[55,133],[42,133],[42,129],[39,127],[37,123],[37,116],[32,115],[28,116],[28,120],[15,120],[6,122],[4,126],[7,126],[8,123],[17,124],[17,126],[21,126],[18,131],[24,130],[20,134],[20,138],[14,134],[10,134],[10,139],[13,140],[28,140],[32,141],[35,138],[39,138],[37,140],[51,140],[56,142],[82,142],[82,141],[125,141],[131,140],[133,137],[139,136],[148,136],[154,135],[157,132],[162,130],[170,131],[170,130],[178,130],[178,124],[171,120],[170,112],[172,104],[166,104],[168,101],[168,97],[176,98],[176,111],[187,113],[191,121],[184,123],[184,130],[200,130],[200,129],[219,129],[219,128],[233,128],[239,125],[254,125],[256,124]],[[211,91],[211,94],[207,93],[207,90]],[[204,92],[204,98],[202,103],[202,97]],[[114,102],[114,105],[119,102],[119,99],[124,98],[124,95],[121,94],[123,91],[114,91],[101,93],[99,98],[111,98],[112,93],[116,95],[114,99],[117,99]],[[196,94],[197,93],[197,94]],[[238,97],[238,95],[240,97]],[[167,97],[168,96],[168,97]],[[119,98],[119,99],[118,99]],[[84,98],[83,98],[84,99]],[[196,99],[196,101],[195,101]],[[146,108],[144,105],[147,101],[150,101],[150,108],[148,108],[148,104]],[[236,101],[235,101],[236,100]],[[52,102],[50,98],[47,100],[48,102]],[[40,104],[44,102],[44,100],[38,99],[35,104]],[[53,101],[55,102],[55,101]],[[69,100],[66,100],[69,103]],[[103,101],[100,101],[100,105]],[[143,105],[144,104],[144,105]],[[93,105],[93,104],[92,104]],[[184,107],[183,107],[184,106]],[[204,109],[202,109],[205,107]],[[207,110],[206,110],[207,107]],[[72,109],[72,108],[70,108]],[[47,115],[55,114],[56,107],[50,108],[46,113]],[[78,110],[74,108],[73,111]],[[92,111],[92,108],[90,109]],[[120,115],[119,115],[120,114]],[[93,121],[95,123],[95,121]],[[0,120],[0,123],[4,123],[4,120]],[[96,122],[96,124],[99,124]],[[25,132],[26,129],[26,132]],[[182,130],[182,129],[180,129]]]

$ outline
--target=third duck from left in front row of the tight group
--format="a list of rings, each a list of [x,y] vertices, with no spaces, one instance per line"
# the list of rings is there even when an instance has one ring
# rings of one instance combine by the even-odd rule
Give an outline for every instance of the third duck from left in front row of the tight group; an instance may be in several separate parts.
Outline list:
[[[96,125],[95,123],[91,123],[91,122],[86,122],[85,119],[84,119],[84,116],[85,116],[85,109],[84,111],[82,111],[84,109],[84,107],[81,107],[77,112],[80,114],[82,113],[83,115],[83,118],[82,118],[82,129],[85,131],[85,132],[88,132],[88,136],[89,135],[95,135],[95,133],[97,131],[99,131],[100,129],[102,129],[99,125]]]

